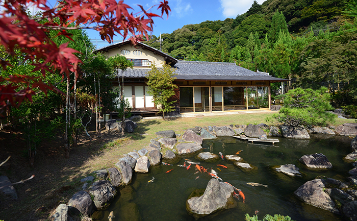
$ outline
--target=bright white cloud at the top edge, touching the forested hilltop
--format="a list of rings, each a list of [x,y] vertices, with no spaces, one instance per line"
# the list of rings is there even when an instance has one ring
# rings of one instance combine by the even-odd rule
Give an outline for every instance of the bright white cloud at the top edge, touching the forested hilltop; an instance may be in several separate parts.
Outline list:
[[[237,15],[248,11],[254,0],[219,0],[219,2],[221,3],[223,16],[235,18]],[[258,0],[257,2],[262,4],[265,0]]]

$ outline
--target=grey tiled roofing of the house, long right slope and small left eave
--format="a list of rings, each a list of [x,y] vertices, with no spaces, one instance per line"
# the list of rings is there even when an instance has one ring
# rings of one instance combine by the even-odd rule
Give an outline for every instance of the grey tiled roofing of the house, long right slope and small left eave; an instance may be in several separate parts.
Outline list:
[[[179,61],[174,66],[178,80],[238,80],[238,81],[287,81],[257,73],[235,63]],[[144,78],[149,69],[127,69],[124,77]],[[119,72],[121,76],[121,72]]]

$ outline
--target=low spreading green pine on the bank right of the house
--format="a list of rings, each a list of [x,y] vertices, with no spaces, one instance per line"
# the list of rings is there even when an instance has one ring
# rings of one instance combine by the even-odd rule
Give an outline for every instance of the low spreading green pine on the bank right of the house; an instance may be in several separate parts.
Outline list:
[[[327,122],[334,122],[333,113],[327,111],[333,107],[329,103],[327,88],[319,90],[296,88],[284,94],[284,107],[278,114],[272,116],[279,124],[292,127],[326,126]],[[272,118],[267,118],[270,121]]]

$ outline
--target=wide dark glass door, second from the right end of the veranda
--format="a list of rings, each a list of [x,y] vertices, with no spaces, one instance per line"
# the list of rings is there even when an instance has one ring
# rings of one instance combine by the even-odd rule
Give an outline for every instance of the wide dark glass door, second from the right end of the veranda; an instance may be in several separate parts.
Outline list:
[[[245,87],[223,87],[224,110],[247,109],[244,89]]]

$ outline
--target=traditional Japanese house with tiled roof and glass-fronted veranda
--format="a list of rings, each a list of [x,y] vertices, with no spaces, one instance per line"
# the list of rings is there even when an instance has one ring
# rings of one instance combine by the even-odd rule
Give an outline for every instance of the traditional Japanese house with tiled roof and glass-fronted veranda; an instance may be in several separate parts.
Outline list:
[[[269,110],[270,84],[287,81],[235,63],[176,60],[143,43],[133,46],[129,40],[100,48],[98,52],[105,52],[109,57],[123,55],[134,63],[133,69],[124,71],[124,96],[132,105],[132,112],[142,115],[157,112],[145,84],[152,62],[157,67],[167,62],[176,68],[174,84],[179,89],[173,97],[177,100],[175,114]],[[121,71],[118,77],[121,80]]]

